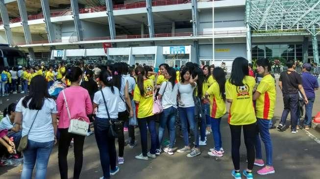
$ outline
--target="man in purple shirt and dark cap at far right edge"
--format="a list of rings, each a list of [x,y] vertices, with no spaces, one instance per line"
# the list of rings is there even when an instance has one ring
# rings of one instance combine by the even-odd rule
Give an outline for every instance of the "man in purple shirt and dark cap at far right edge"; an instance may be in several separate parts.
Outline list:
[[[309,130],[311,126],[313,103],[315,101],[315,90],[318,90],[319,84],[317,78],[310,73],[310,64],[303,64],[302,71],[302,87],[309,101],[309,103],[305,105],[306,112],[304,115],[304,129]]]

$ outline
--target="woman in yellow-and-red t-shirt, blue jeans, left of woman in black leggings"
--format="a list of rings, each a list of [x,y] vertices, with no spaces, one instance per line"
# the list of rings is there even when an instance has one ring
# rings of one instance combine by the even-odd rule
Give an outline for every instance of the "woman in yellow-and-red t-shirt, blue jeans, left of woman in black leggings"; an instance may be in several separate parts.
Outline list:
[[[215,80],[205,92],[205,99],[209,101],[209,119],[213,133],[215,147],[208,152],[209,156],[222,157],[223,148],[220,132],[220,122],[226,112],[225,108],[225,75],[222,68],[218,67],[213,70]]]

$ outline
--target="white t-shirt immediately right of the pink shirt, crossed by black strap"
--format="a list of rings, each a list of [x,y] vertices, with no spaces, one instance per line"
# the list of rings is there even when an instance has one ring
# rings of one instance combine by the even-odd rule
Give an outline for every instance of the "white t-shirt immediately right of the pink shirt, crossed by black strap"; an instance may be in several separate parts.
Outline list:
[[[118,88],[117,87],[113,87],[113,88],[114,88],[114,92],[115,93],[112,93],[110,87],[104,87],[102,89],[102,92],[103,92],[103,95],[104,95],[104,99],[105,99],[105,101],[107,103],[107,107],[108,107],[110,118],[116,119],[116,118],[118,118],[119,101],[121,99],[120,99],[120,96],[119,96]],[[97,91],[95,93],[95,97],[93,99],[93,102],[98,105],[97,117],[99,117],[99,118],[108,118],[108,114],[107,114],[107,111],[106,111],[105,106],[104,106],[104,101],[103,101],[103,97],[102,97],[101,91]]]

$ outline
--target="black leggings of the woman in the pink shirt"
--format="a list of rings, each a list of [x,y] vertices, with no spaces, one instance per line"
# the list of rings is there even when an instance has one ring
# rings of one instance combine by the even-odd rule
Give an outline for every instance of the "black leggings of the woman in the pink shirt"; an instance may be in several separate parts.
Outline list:
[[[58,160],[59,160],[59,171],[61,179],[68,179],[68,150],[69,145],[74,139],[74,177],[73,179],[79,179],[82,161],[83,161],[83,144],[84,137],[83,135],[72,134],[68,132],[67,129],[59,129],[60,138],[58,146]]]

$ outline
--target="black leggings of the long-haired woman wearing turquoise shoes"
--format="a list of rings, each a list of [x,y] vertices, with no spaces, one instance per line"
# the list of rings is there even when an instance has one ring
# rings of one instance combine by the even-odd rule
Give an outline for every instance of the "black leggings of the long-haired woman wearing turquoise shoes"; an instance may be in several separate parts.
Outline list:
[[[257,134],[257,124],[247,124],[247,125],[231,125],[231,155],[235,170],[240,170],[240,145],[241,145],[241,128],[244,128],[245,144],[246,144],[246,158],[248,160],[247,168],[252,170],[255,150],[254,141],[255,135]]]

